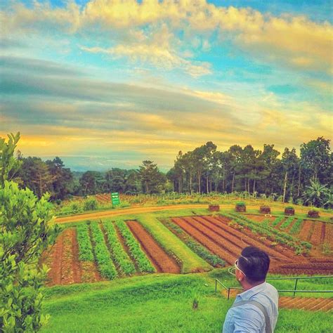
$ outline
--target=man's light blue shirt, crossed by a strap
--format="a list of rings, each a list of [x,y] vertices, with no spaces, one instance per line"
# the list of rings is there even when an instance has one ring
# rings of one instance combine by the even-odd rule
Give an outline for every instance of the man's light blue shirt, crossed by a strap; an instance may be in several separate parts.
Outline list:
[[[238,294],[235,303],[238,301],[257,301],[266,308],[270,318],[270,326],[274,331],[278,320],[278,291],[267,282],[248,289]],[[235,304],[234,303],[234,304]],[[266,323],[263,312],[253,304],[243,304],[230,308],[223,325],[223,333],[241,332],[265,332]]]

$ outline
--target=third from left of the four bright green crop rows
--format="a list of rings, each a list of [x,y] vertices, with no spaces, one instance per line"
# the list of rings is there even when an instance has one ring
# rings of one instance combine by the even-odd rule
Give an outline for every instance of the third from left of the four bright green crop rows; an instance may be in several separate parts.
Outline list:
[[[126,275],[135,273],[136,268],[134,267],[129,256],[126,254],[122,244],[119,242],[114,223],[108,221],[103,223],[103,227],[107,236],[107,241],[110,244],[112,258],[119,266],[119,270],[122,270],[122,272]]]

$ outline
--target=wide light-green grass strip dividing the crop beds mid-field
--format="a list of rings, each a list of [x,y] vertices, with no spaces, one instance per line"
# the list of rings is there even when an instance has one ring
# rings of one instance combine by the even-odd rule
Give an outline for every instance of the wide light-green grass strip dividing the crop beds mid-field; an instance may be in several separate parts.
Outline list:
[[[157,242],[169,252],[174,254],[182,262],[182,273],[191,273],[197,270],[210,270],[209,263],[204,261],[200,256],[192,252],[176,235],[157,220],[152,214],[142,214],[138,221],[146,230],[157,240]]]

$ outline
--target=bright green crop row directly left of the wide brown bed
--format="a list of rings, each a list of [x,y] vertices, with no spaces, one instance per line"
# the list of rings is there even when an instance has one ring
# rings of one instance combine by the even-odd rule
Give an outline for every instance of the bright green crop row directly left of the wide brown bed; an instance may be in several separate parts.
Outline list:
[[[117,221],[117,227],[119,228],[122,237],[124,237],[124,241],[126,246],[129,248],[129,252],[131,257],[136,261],[138,264],[138,269],[141,272],[153,273],[155,272],[155,268],[152,266],[148,258],[145,256],[143,251],[141,250],[138,242],[133,237],[129,228],[126,226],[124,221]]]

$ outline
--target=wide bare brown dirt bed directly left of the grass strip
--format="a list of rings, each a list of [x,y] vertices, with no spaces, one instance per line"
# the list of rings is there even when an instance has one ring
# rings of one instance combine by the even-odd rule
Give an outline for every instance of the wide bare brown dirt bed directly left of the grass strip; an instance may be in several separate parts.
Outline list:
[[[127,225],[131,229],[131,232],[140,242],[141,247],[148,254],[152,263],[157,268],[157,271],[162,273],[181,273],[176,261],[169,257],[164,250],[159,247],[159,244],[152,238],[152,236],[141,226],[138,221],[127,221]]]

